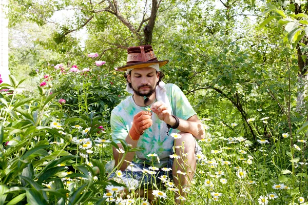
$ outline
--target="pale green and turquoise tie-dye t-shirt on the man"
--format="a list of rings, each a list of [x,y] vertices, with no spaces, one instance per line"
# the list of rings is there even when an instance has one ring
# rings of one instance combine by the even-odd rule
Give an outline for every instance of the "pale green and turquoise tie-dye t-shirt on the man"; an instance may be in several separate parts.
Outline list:
[[[189,117],[196,114],[192,109],[186,96],[181,89],[174,84],[165,84],[167,90],[167,97],[172,107],[172,115],[175,115],[181,119],[187,120]],[[153,103],[155,103],[155,100]],[[117,139],[124,139],[127,137],[128,132],[132,126],[133,116],[140,111],[145,111],[151,105],[146,107],[140,107],[134,103],[132,96],[127,97],[125,100],[115,107],[111,112],[111,135],[112,140],[116,144],[121,142]],[[155,167],[164,167],[171,154],[172,146],[174,145],[174,138],[170,136],[171,132],[177,132],[177,130],[170,130],[169,136],[167,135],[167,125],[164,121],[160,120],[155,113],[152,113],[153,124],[150,128],[144,131],[143,135],[138,140],[138,147],[144,148],[141,151],[137,151],[137,163],[147,163],[154,165]],[[157,154],[160,159],[160,163],[156,157],[148,157],[148,154]],[[152,161],[153,160],[153,161]]]

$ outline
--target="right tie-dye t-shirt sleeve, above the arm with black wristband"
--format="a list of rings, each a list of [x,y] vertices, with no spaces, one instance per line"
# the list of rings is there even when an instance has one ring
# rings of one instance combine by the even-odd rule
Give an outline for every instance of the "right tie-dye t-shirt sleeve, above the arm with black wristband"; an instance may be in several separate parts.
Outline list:
[[[184,95],[181,89],[177,85],[172,85],[171,88],[170,101],[174,115],[184,120],[187,120],[189,117],[196,115],[197,113],[191,107],[187,97]]]

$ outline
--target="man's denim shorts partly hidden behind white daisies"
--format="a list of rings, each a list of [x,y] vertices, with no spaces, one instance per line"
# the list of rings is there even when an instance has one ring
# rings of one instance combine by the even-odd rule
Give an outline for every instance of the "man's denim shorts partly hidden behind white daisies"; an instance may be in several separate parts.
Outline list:
[[[196,146],[195,146],[195,154],[201,154],[202,149],[198,145],[196,139]],[[174,150],[174,149],[172,149]],[[174,154],[172,151],[170,155]],[[114,177],[115,173],[110,175],[112,180],[115,180],[119,183],[123,183],[127,186],[129,190],[136,190],[136,189],[158,189],[161,184],[162,180],[160,179],[163,175],[167,180],[173,180],[172,177],[172,166],[173,166],[174,158],[169,158],[166,168],[171,168],[170,171],[163,171],[161,168],[155,173],[149,173],[150,165],[146,163],[135,163],[132,162],[125,171],[122,172],[121,177]],[[146,170],[146,171],[145,171]],[[157,186],[157,187],[156,187]]]

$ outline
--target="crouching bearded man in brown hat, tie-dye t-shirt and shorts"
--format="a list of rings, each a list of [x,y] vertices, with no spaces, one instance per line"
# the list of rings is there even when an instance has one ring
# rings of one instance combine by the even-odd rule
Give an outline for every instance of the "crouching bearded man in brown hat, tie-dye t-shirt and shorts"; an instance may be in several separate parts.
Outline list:
[[[161,182],[164,170],[172,170],[167,175],[179,189],[179,203],[178,196],[185,196],[183,189],[196,170],[195,154],[200,147],[195,138],[204,138],[203,125],[179,87],[161,81],[160,67],[168,60],[159,61],[150,45],[130,47],[127,52],[127,64],[117,70],[126,71],[127,91],[133,95],[112,110],[111,134],[119,148],[123,139],[142,150],[126,153],[119,165],[123,153],[113,148],[115,165],[125,170],[126,185],[137,185],[140,196],[149,200],[154,199],[151,191],[157,190],[153,183]],[[131,163],[135,154],[136,161]]]

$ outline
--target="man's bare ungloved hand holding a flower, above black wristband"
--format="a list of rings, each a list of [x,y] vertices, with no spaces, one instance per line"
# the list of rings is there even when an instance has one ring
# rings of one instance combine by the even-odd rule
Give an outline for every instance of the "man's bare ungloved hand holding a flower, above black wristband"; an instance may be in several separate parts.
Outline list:
[[[168,110],[166,104],[162,101],[158,101],[151,106],[153,113],[157,114],[160,120],[166,122],[166,124],[172,125],[175,123],[174,117],[172,117],[171,112]]]

